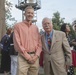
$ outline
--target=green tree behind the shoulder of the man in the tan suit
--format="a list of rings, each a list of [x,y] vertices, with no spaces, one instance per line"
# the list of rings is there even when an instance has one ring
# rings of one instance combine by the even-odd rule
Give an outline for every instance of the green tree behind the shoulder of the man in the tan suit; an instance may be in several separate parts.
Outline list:
[[[64,23],[65,18],[60,17],[60,13],[57,11],[53,13],[52,22],[54,25],[54,29],[60,30],[61,25]]]

